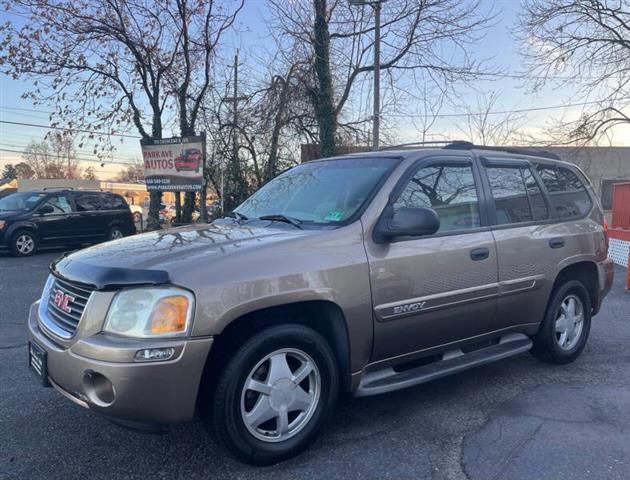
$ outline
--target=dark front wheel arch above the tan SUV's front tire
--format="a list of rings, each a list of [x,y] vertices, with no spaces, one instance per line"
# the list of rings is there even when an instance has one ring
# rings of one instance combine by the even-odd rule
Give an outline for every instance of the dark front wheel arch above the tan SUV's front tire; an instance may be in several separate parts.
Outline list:
[[[342,388],[350,390],[350,338],[345,315],[339,305],[329,300],[306,300],[262,308],[232,320],[215,337],[206,359],[199,387],[198,406],[203,396],[208,398],[212,395],[231,354],[244,341],[265,328],[287,323],[310,327],[326,339],[337,360]]]

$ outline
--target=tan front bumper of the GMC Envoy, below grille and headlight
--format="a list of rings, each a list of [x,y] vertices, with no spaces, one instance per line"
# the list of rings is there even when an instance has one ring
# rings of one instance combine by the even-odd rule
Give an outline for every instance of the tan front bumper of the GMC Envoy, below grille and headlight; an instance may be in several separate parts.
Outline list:
[[[75,403],[113,419],[168,424],[193,418],[201,375],[213,339],[127,339],[97,333],[62,345],[31,306],[29,337],[47,352],[52,385]],[[167,361],[133,362],[143,348],[173,347]]]

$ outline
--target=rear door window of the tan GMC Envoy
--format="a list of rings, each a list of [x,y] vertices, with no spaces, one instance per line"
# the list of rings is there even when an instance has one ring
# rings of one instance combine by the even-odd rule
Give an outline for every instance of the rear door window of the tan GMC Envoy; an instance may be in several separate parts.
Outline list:
[[[540,187],[528,168],[488,167],[498,225],[549,218]]]

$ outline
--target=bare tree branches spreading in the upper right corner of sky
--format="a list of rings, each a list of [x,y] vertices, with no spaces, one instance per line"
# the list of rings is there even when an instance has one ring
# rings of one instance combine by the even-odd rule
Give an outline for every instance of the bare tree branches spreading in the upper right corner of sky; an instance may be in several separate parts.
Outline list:
[[[548,84],[572,92],[577,88],[577,96],[591,105],[578,119],[560,123],[563,138],[556,142],[597,142],[615,127],[630,124],[627,0],[526,0],[518,37],[525,77],[534,89]]]

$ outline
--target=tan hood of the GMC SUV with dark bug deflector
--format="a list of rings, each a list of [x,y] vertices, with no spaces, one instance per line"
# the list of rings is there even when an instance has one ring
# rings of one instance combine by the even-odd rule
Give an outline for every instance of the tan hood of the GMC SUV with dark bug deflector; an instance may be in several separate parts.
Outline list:
[[[169,272],[205,265],[204,260],[260,248],[313,231],[230,224],[197,224],[95,245],[64,255],[51,265],[56,274],[99,289],[163,284]]]

